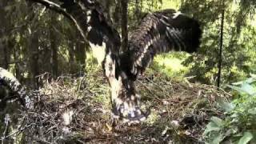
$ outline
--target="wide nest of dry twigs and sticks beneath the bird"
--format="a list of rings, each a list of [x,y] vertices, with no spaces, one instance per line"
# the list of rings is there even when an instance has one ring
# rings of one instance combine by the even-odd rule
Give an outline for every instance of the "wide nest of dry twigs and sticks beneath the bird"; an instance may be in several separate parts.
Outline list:
[[[34,96],[34,109],[22,112],[23,142],[39,143],[204,143],[202,132],[211,116],[221,116],[217,101],[230,95],[214,86],[180,82],[145,74],[137,82],[150,107],[146,122],[112,125],[110,93],[101,70],[84,77],[60,77]]]

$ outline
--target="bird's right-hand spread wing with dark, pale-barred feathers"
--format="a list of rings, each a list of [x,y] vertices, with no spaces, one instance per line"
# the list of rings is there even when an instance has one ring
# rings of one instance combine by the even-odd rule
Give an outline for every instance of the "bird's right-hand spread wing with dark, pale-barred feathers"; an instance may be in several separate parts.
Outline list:
[[[196,20],[175,10],[147,14],[132,33],[129,49],[122,54],[122,63],[128,67],[126,73],[137,78],[159,53],[170,50],[195,52],[201,34]]]

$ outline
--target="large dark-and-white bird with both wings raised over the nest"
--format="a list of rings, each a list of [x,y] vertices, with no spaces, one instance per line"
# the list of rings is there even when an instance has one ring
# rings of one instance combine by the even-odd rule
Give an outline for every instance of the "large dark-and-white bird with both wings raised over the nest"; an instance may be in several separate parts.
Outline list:
[[[104,74],[110,84],[114,118],[140,122],[150,110],[141,109],[134,82],[156,54],[175,51],[193,53],[198,49],[202,30],[197,20],[175,10],[146,14],[130,33],[126,51],[120,49],[118,30],[97,0],[31,0],[64,14],[77,26],[92,49],[100,51]]]

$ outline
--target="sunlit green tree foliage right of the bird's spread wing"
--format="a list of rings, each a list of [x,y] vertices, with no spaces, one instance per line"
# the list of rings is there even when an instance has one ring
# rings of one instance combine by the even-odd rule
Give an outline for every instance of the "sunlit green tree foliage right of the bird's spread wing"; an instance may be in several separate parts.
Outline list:
[[[197,55],[186,60],[192,64],[190,74],[194,81],[215,84],[218,74],[218,50],[220,38],[220,14],[222,1],[190,1],[183,2],[181,9],[202,24],[202,45]],[[222,53],[222,84],[237,82],[246,78],[255,66],[254,10],[250,10],[244,1],[225,1],[225,24]],[[196,8],[196,9],[194,9]]]

